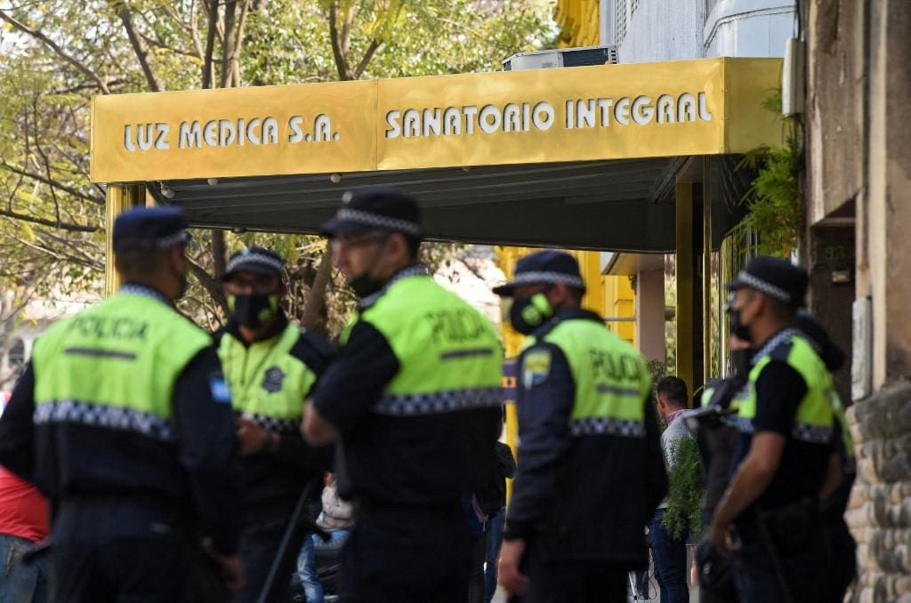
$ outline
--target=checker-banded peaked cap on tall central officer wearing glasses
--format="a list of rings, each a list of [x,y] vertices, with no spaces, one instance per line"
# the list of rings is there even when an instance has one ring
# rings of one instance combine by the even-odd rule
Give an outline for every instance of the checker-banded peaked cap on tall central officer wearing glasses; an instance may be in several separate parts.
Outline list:
[[[320,232],[326,237],[337,237],[375,229],[400,232],[413,240],[421,240],[424,231],[417,201],[396,189],[349,190],[342,198],[342,207],[332,220],[322,224]]]

